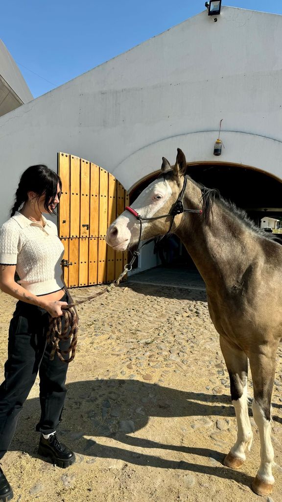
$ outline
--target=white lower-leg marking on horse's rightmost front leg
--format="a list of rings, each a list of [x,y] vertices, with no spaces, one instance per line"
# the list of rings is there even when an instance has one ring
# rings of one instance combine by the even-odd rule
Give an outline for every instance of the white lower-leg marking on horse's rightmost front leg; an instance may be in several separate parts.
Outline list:
[[[266,420],[263,410],[255,400],[252,402],[252,412],[260,438],[260,466],[257,476],[265,483],[273,484],[272,462],[274,451],[271,443],[270,421]]]

